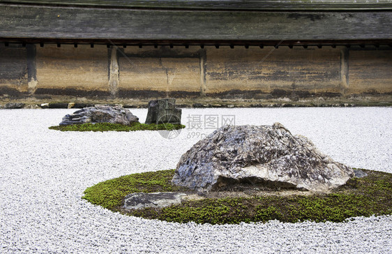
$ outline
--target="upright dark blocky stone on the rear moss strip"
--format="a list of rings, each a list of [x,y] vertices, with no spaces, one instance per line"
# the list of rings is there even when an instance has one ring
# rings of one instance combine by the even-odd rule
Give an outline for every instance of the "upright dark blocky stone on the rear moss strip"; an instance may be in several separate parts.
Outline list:
[[[176,108],[176,99],[150,100],[145,124],[167,123],[181,124],[181,109]]]

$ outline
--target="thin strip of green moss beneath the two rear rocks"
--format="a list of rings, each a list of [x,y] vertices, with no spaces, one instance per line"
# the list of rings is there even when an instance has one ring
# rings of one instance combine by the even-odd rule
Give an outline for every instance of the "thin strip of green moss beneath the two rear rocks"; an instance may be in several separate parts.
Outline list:
[[[134,130],[179,130],[185,128],[182,124],[140,124],[133,123],[130,126],[123,124],[73,124],[66,126],[51,126],[51,130],[61,131],[134,131]]]

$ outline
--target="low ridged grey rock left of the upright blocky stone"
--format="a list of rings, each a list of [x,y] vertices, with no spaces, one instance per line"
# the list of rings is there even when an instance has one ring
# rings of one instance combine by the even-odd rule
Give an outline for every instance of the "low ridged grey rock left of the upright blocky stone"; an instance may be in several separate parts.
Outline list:
[[[138,122],[139,118],[133,115],[130,110],[116,105],[114,107],[108,105],[96,105],[95,107],[84,107],[77,110],[73,114],[66,114],[60,125],[70,124],[96,124],[96,123],[112,123],[130,125]]]

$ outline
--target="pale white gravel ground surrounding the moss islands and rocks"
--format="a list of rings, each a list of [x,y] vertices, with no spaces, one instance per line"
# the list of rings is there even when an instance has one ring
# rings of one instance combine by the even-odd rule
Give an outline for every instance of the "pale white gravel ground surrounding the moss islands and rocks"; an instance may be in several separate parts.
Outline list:
[[[124,174],[174,168],[199,131],[49,130],[75,110],[0,110],[0,253],[392,253],[392,216],[347,223],[197,225],[122,216],[81,199]],[[131,110],[140,119],[146,110]],[[352,167],[392,173],[392,108],[184,109],[234,114],[236,124],[279,121]],[[197,134],[197,133],[196,133]]]

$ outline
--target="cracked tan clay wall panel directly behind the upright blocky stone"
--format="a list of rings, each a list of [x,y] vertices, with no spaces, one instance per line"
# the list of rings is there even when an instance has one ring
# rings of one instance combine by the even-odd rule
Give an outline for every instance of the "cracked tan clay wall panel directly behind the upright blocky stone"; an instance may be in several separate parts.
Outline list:
[[[173,49],[173,54],[156,54],[153,46],[127,47],[119,53],[120,89],[153,91],[200,91],[198,49]],[[169,51],[170,52],[170,51]],[[185,54],[184,54],[185,53]]]

